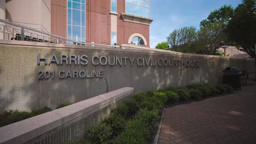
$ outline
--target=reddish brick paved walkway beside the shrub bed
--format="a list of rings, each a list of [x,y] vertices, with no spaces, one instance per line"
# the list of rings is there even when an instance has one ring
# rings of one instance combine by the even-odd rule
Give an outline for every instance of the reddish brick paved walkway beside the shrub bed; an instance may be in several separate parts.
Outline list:
[[[256,143],[256,83],[165,109],[158,143]]]

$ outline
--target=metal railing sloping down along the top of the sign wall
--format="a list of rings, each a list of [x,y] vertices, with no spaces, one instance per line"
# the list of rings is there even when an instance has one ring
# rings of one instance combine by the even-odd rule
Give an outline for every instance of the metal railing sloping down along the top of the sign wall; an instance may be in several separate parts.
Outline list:
[[[82,43],[79,41],[60,37],[59,35],[54,35],[54,34],[46,33],[43,31],[39,31],[38,29],[26,27],[14,22],[9,22],[7,20],[0,19],[0,22],[5,23],[5,25],[0,24],[0,38],[5,40],[24,40],[24,41],[37,41],[41,43],[71,44],[71,45],[98,46],[98,47],[111,47],[111,48],[120,47],[117,45]]]

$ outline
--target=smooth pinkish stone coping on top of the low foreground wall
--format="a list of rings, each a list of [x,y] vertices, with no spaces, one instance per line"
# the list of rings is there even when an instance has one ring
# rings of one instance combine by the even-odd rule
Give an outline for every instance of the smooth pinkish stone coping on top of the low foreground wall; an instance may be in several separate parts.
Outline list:
[[[0,128],[0,143],[25,143],[50,130],[71,122],[73,119],[89,113],[98,107],[134,92],[134,88],[124,87],[112,92],[80,101],[54,111],[43,113],[23,121]]]

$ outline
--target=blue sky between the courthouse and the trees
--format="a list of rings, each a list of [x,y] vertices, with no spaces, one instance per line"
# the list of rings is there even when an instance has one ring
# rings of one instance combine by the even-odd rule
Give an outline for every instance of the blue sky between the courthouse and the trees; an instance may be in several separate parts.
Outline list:
[[[214,9],[222,5],[237,7],[241,0],[150,0],[150,47],[166,41],[168,35],[181,27],[199,28]]]

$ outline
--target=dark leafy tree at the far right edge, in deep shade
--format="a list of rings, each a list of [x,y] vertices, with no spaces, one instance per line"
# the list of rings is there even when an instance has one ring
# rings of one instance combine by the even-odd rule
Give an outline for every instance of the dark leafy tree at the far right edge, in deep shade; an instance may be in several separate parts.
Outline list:
[[[255,57],[256,1],[243,0],[226,28],[229,40],[241,46],[251,57]]]

